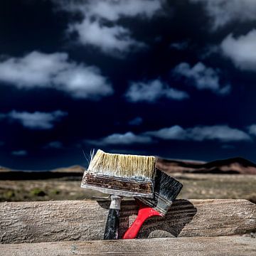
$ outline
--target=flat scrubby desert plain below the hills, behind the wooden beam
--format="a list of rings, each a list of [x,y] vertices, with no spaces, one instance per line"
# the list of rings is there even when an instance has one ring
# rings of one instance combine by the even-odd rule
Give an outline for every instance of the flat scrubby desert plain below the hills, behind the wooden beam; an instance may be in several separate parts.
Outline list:
[[[76,200],[105,196],[80,188],[76,176],[0,180],[0,201]],[[183,183],[178,198],[244,198],[256,203],[256,176],[242,174],[172,174]]]

